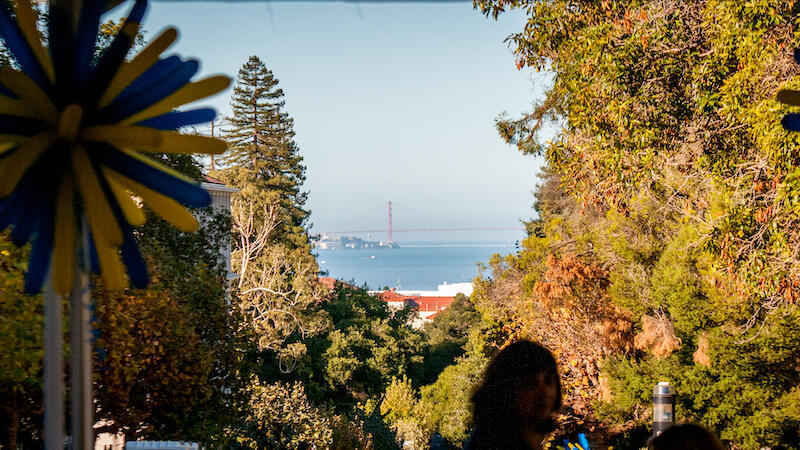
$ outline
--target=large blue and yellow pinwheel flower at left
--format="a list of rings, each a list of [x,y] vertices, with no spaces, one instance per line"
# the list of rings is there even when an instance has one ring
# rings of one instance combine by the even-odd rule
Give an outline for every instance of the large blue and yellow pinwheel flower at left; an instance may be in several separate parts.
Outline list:
[[[13,57],[13,67],[0,70],[0,229],[10,226],[18,245],[33,242],[26,290],[40,291],[51,268],[55,291],[69,292],[82,217],[91,268],[107,287],[126,286],[125,268],[133,286],[147,285],[132,231],[145,221],[141,203],[193,231],[197,221],[183,206],[207,206],[210,197],[140,152],[223,152],[220,140],[175,131],[213,120],[214,110],[177,108],[224,90],[230,80],[191,82],[197,61],[162,58],[177,38],[174,28],[126,59],[146,0],[135,1],[99,52],[101,17],[118,1],[74,0],[68,3],[74,20],[51,2],[49,49],[30,0],[16,0],[13,11],[0,2],[0,37]]]

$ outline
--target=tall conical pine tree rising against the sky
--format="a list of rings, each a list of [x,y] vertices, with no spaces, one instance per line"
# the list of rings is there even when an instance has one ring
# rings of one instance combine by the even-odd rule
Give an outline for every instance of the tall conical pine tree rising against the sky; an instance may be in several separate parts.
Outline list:
[[[301,191],[305,166],[294,142],[294,120],[284,104],[278,79],[257,56],[251,56],[239,70],[233,90],[233,116],[224,134],[230,151],[222,164],[229,168],[226,172],[233,185],[253,188],[268,197],[265,201],[280,206],[280,226],[271,241],[305,247],[309,215],[304,208],[307,194]]]

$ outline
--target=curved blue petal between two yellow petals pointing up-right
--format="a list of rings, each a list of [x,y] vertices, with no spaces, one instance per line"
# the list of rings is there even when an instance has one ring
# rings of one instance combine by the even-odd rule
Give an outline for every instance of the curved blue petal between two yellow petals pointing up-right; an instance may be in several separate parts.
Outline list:
[[[96,119],[100,123],[116,123],[126,117],[130,117],[182,88],[197,73],[198,68],[197,61],[187,61],[181,64],[180,68],[174,71],[170,77],[164,79],[162,83],[151,87],[141,95],[112,103],[98,112]]]

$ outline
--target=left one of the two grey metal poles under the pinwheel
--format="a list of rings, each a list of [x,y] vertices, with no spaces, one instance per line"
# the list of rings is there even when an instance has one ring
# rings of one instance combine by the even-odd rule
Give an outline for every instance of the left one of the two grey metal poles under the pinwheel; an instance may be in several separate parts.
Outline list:
[[[61,296],[53,290],[53,272],[44,288],[44,448],[64,448],[64,336]]]

